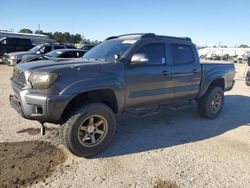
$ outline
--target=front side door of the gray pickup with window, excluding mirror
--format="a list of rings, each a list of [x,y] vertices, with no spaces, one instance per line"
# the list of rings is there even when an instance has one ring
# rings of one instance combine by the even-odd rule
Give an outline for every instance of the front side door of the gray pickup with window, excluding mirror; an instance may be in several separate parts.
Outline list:
[[[139,55],[139,56],[136,56]],[[143,56],[147,63],[128,63],[126,69],[126,107],[154,105],[167,102],[171,95],[170,70],[167,65],[165,43],[144,44],[132,55]]]

